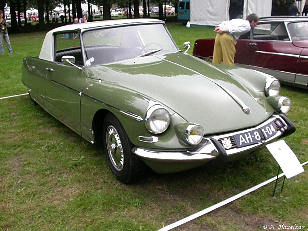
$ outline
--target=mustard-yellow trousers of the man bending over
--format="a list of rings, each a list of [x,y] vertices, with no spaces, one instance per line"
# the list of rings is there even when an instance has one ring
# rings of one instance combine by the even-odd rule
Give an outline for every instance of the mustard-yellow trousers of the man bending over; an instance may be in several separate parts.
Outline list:
[[[213,63],[224,62],[234,66],[236,40],[230,34],[217,34],[214,43]]]

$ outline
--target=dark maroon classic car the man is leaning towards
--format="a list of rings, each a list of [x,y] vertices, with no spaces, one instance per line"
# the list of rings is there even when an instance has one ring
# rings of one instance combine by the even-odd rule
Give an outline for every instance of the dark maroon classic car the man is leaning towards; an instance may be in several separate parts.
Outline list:
[[[198,39],[193,55],[211,59],[214,40]],[[235,63],[307,89],[308,17],[260,18],[257,27],[237,40]]]

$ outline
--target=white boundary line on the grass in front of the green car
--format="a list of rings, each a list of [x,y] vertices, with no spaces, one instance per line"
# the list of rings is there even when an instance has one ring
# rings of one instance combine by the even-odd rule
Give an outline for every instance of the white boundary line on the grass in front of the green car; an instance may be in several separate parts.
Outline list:
[[[305,164],[308,164],[308,161],[305,162],[305,163],[303,163],[302,166],[304,166]],[[230,203],[230,202],[232,202],[232,201],[235,201],[236,199],[238,199],[238,198],[240,198],[240,197],[243,197],[243,196],[245,196],[246,194],[251,193],[251,192],[255,191],[255,190],[258,189],[258,188],[261,188],[262,186],[264,186],[264,185],[266,185],[266,184],[269,184],[270,182],[272,182],[272,181],[274,181],[274,180],[276,180],[276,179],[278,179],[278,178],[280,178],[280,177],[282,177],[282,176],[284,176],[284,175],[285,175],[284,173],[281,173],[281,174],[279,174],[278,176],[275,176],[275,177],[273,177],[273,178],[271,178],[271,179],[269,179],[269,180],[266,180],[266,181],[264,181],[263,183],[258,184],[258,185],[254,186],[254,187],[252,187],[252,188],[249,188],[249,189],[247,189],[247,190],[244,191],[244,192],[241,192],[241,193],[239,193],[239,194],[237,194],[237,195],[235,195],[235,196],[233,196],[233,197],[230,197],[230,198],[228,198],[228,199],[226,199],[226,200],[224,200],[224,201],[221,201],[221,202],[217,203],[216,205],[212,205],[211,207],[209,207],[209,208],[207,208],[207,209],[201,210],[201,211],[198,212],[198,213],[195,213],[195,214],[190,215],[190,216],[188,216],[188,217],[186,217],[186,218],[183,218],[183,219],[180,220],[180,221],[176,221],[176,222],[174,222],[174,223],[172,223],[172,224],[170,224],[170,225],[167,225],[167,226],[165,226],[164,228],[161,228],[161,229],[159,229],[159,230],[157,230],[157,231],[168,231],[168,230],[170,230],[170,229],[173,229],[173,228],[176,228],[176,227],[178,227],[178,226],[180,226],[180,225],[183,225],[184,223],[186,223],[186,222],[188,222],[188,221],[192,221],[193,219],[196,219],[197,217],[201,217],[202,215],[204,215],[204,214],[206,214],[206,213],[209,213],[209,212],[213,211],[214,209],[218,209],[218,208],[220,208],[220,207],[223,206],[223,205],[226,205],[226,204],[228,204],[228,203]]]

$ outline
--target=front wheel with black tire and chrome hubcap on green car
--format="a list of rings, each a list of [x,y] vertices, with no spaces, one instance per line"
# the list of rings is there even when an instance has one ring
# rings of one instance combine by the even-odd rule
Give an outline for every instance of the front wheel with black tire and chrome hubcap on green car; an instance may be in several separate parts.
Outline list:
[[[134,147],[120,121],[108,113],[103,124],[103,145],[111,172],[115,177],[129,184],[144,175],[145,164],[131,152]]]

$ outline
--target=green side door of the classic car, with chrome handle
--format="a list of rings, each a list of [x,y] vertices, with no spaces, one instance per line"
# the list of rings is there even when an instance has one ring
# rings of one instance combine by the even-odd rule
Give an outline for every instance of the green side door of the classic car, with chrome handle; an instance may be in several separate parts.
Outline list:
[[[67,39],[62,35],[57,35],[55,41]],[[61,37],[62,36],[62,37]],[[80,49],[80,47],[78,47]],[[76,49],[76,50],[79,50]],[[76,50],[61,50],[61,54],[74,55]],[[74,53],[75,52],[75,53]],[[81,52],[81,50],[80,50]],[[55,56],[56,57],[56,56]],[[63,64],[55,60],[49,63],[48,78],[46,84],[46,104],[48,110],[68,127],[78,134],[80,129],[80,100],[86,78],[82,68],[71,64]]]

